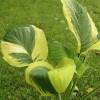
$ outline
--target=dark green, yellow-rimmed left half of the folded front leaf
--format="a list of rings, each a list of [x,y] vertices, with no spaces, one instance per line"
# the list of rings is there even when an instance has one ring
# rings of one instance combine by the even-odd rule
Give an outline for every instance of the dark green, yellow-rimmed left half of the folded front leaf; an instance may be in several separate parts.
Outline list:
[[[47,62],[34,62],[26,69],[26,82],[36,88],[41,95],[57,94],[49,80],[48,71],[50,70],[53,70],[53,67]]]

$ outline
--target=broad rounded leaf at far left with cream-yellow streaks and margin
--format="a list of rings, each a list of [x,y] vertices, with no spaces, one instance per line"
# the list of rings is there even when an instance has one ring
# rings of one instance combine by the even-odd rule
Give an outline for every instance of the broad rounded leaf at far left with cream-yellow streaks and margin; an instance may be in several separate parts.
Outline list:
[[[24,67],[33,61],[45,60],[48,46],[44,32],[30,25],[7,32],[1,41],[1,51],[10,65]]]

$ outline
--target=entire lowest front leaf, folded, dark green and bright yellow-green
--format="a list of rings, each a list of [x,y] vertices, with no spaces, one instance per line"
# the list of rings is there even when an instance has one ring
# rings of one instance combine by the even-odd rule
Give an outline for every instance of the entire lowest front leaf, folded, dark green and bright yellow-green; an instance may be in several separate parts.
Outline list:
[[[26,81],[41,95],[63,93],[76,71],[73,60],[64,58],[58,67],[52,67],[44,61],[32,63],[26,69]]]

